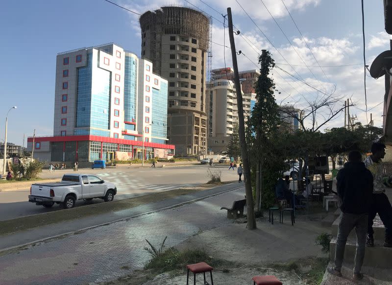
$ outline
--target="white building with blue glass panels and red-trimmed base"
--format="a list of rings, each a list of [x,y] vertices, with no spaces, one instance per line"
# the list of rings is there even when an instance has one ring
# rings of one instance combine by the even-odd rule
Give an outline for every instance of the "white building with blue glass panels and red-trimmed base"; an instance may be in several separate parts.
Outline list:
[[[142,158],[143,140],[146,158],[173,155],[166,144],[168,82],[152,68],[115,44],[59,53],[54,136],[35,138],[35,157],[110,161],[124,152],[127,159]],[[32,147],[32,138],[28,143]]]

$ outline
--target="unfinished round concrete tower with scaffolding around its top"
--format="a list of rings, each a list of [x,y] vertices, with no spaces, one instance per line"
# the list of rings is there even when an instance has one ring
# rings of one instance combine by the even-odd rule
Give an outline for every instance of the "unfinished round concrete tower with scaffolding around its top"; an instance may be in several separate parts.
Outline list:
[[[169,143],[176,154],[199,154],[206,147],[209,18],[185,7],[162,7],[139,21],[142,57],[169,81]]]

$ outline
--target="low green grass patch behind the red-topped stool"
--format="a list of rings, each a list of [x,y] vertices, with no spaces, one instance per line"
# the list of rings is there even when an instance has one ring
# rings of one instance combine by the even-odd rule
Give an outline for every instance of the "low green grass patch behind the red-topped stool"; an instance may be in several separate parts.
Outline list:
[[[202,261],[208,263],[214,268],[232,263],[229,261],[214,259],[203,249],[187,249],[178,251],[174,248],[170,248],[164,251],[162,255],[151,259],[145,265],[145,269],[150,269],[155,274],[160,274],[172,270],[185,270],[187,264]]]

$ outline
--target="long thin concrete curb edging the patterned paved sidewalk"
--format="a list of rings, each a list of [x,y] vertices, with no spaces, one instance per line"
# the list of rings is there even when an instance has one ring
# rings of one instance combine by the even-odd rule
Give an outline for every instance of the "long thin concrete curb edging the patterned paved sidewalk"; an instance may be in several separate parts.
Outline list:
[[[228,184],[228,185],[230,185],[230,184]],[[135,217],[139,217],[139,216],[142,216],[142,215],[146,215],[146,214],[151,214],[151,213],[155,213],[155,212],[160,212],[160,211],[172,209],[172,208],[175,208],[175,207],[178,207],[178,206],[181,206],[181,205],[185,205],[185,204],[190,204],[190,203],[194,203],[194,202],[197,202],[197,201],[201,201],[201,200],[204,200],[204,199],[212,197],[212,196],[217,196],[217,195],[220,195],[220,194],[223,194],[223,193],[226,193],[226,192],[238,190],[238,189],[241,189],[243,187],[245,187],[245,186],[236,187],[236,188],[230,189],[230,190],[224,190],[224,191],[221,191],[219,193],[207,195],[207,196],[204,196],[204,197],[201,197],[201,198],[189,200],[189,201],[186,201],[186,202],[178,203],[178,204],[175,204],[175,205],[172,205],[172,206],[160,208],[160,209],[153,210],[153,211],[148,211],[148,212],[141,213],[141,214],[136,214],[136,215],[133,215],[133,216],[124,217],[124,218],[121,218],[121,219],[117,219],[117,220],[114,220],[114,221],[110,221],[110,222],[94,225],[94,226],[91,226],[91,227],[86,227],[86,228],[79,229],[79,230],[76,230],[76,231],[67,232],[67,233],[56,235],[56,236],[52,236],[52,237],[45,237],[45,238],[37,239],[37,240],[34,240],[34,241],[26,242],[26,243],[23,243],[23,244],[19,244],[19,245],[3,248],[3,249],[0,249],[0,253],[6,252],[6,251],[9,251],[9,250],[12,250],[12,249],[16,249],[16,248],[19,248],[19,247],[24,247],[24,246],[27,246],[27,245],[30,245],[30,244],[34,244],[34,243],[38,243],[38,242],[44,242],[44,241],[47,241],[47,240],[50,240],[50,239],[54,239],[54,238],[57,238],[57,237],[70,236],[70,235],[78,233],[78,232],[82,232],[82,231],[98,228],[98,227],[101,227],[101,226],[110,225],[112,223],[125,221],[125,220],[131,219],[131,218],[135,218]]]

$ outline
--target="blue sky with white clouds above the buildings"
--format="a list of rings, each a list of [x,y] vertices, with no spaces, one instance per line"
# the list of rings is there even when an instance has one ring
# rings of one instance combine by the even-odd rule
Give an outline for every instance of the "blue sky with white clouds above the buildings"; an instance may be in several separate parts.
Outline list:
[[[224,61],[227,67],[232,66],[230,49],[223,47],[230,46],[227,27],[221,23],[224,21],[221,14],[226,15],[226,8],[231,7],[233,24],[243,35],[235,36],[236,49],[243,53],[238,55],[239,70],[258,69],[258,53],[267,49],[276,65],[288,72],[277,68],[272,72],[280,92],[275,93],[278,104],[295,104],[301,109],[306,101],[322,97],[304,81],[322,92],[334,91],[334,96],[351,98],[356,106],[350,108],[350,114],[356,115],[357,121],[367,123],[363,111],[364,59],[359,0],[112,1],[139,14],[178,5],[212,15],[215,18],[212,20],[213,69],[224,67]],[[366,62],[370,66],[379,53],[390,49],[391,35],[384,30],[383,1],[365,0],[364,7]],[[140,55],[139,16],[107,1],[4,1],[1,8],[0,140],[4,139],[5,116],[12,106],[17,109],[8,115],[8,142],[22,144],[24,135],[32,136],[34,129],[36,136],[53,134],[57,53],[113,42]],[[297,80],[289,73],[302,79]],[[380,103],[385,93],[384,78],[376,80],[367,76],[366,83],[368,119],[372,113],[374,125],[382,126],[383,104]],[[342,113],[325,127],[343,126],[343,121]],[[322,123],[321,117],[318,123]]]

